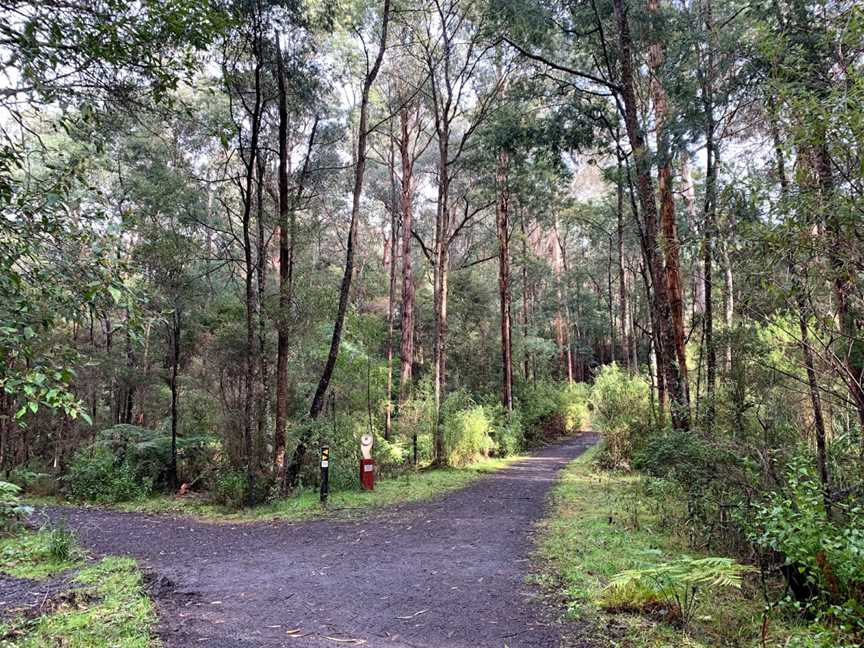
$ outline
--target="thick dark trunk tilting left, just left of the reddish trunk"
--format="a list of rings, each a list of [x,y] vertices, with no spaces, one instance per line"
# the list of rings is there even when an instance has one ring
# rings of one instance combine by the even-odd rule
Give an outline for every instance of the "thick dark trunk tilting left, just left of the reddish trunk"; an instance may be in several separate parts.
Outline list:
[[[636,163],[637,193],[644,220],[642,248],[648,272],[651,274],[653,300],[656,304],[656,315],[660,328],[660,354],[663,357],[665,387],[671,397],[672,424],[676,429],[686,430],[690,428],[690,408],[687,402],[684,376],[676,357],[676,336],[667,280],[658,254],[657,205],[654,202],[654,181],[651,177],[650,156],[639,126],[639,108],[636,102],[633,69],[633,39],[630,35],[630,24],[624,0],[613,0],[613,8],[618,24],[618,41],[621,52],[621,98],[624,103],[624,123]],[[665,188],[671,190],[668,184]]]

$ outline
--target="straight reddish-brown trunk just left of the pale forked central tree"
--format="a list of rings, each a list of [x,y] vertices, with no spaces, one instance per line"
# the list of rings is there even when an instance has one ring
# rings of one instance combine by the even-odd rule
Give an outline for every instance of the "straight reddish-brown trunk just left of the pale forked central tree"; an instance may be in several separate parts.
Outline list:
[[[399,403],[408,400],[414,371],[414,270],[411,260],[411,228],[414,201],[414,158],[410,149],[409,114],[407,106],[399,111],[399,160],[402,178],[400,205],[402,211],[402,340],[399,346]],[[416,437],[416,432],[415,432]],[[414,462],[417,462],[416,438]]]

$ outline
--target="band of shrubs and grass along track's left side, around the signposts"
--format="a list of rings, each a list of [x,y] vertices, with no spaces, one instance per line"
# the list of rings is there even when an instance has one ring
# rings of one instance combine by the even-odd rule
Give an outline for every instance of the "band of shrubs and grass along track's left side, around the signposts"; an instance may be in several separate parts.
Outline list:
[[[368,431],[368,422],[337,413],[307,425],[311,447],[330,447],[330,508],[345,510],[422,499],[464,486],[525,450],[580,429],[587,413],[588,388],[581,384],[562,387],[539,381],[521,385],[509,414],[497,396],[478,398],[458,390],[442,407],[448,468],[430,471],[434,402],[428,386],[421,384],[414,398],[402,405],[391,437],[386,439],[375,431],[379,481],[374,496],[359,490],[359,437]],[[297,430],[289,436],[296,437]],[[173,497],[168,488],[170,452],[170,437],[164,432],[116,425],[79,450],[59,478],[35,469],[18,470],[12,478],[31,498],[60,496],[79,503],[122,504],[132,510],[231,513],[233,517],[303,519],[320,515],[314,492],[319,474],[315,453],[309,453],[300,485],[290,497],[277,496],[272,478],[261,471],[252,498],[259,505],[246,508],[250,500],[247,474],[231,468],[217,437],[197,434],[178,440],[179,478],[189,491],[185,498]]]

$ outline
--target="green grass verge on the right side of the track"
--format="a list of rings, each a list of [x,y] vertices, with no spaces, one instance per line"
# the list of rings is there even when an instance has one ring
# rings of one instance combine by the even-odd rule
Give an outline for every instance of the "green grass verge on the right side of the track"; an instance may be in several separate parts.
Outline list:
[[[649,614],[613,611],[604,588],[627,569],[674,560],[686,543],[661,524],[663,507],[644,494],[638,474],[610,473],[592,463],[594,448],[572,462],[552,494],[552,510],[540,525],[536,579],[561,595],[567,615],[588,620],[601,646],[836,646],[818,643],[810,629],[772,618],[762,641],[763,604],[755,582],[706,591],[686,632]],[[608,594],[608,591],[606,592]]]

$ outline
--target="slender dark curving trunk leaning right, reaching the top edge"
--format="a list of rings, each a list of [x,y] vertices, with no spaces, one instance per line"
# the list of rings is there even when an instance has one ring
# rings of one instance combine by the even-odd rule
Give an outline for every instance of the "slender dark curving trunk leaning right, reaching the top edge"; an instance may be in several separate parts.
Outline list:
[[[348,298],[351,293],[351,280],[354,275],[354,240],[357,237],[357,221],[360,218],[360,197],[363,193],[363,176],[366,171],[366,145],[369,137],[369,93],[372,84],[381,69],[381,61],[384,58],[384,50],[387,47],[387,27],[390,21],[390,0],[384,0],[384,8],[381,16],[381,36],[378,44],[378,54],[372,67],[366,72],[363,80],[363,92],[360,96],[360,123],[357,132],[357,163],[354,168],[354,189],[351,201],[351,224],[348,227],[348,240],[345,244],[345,271],[342,274],[342,283],[339,287],[339,306],[336,310],[336,319],[333,322],[333,336],[330,339],[330,350],[327,353],[327,361],[321,372],[318,387],[312,397],[312,405],[309,408],[309,418],[316,420],[324,409],[324,397],[330,386],[333,369],[336,367],[336,359],[339,356],[339,346],[342,342],[342,327],[345,325],[345,314],[348,311]],[[290,488],[297,485],[300,467],[306,456],[306,446],[309,443],[309,432],[307,431],[294,449],[291,457],[291,465],[288,467],[286,480]]]

